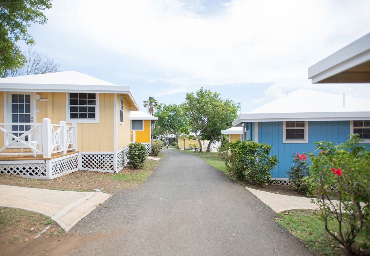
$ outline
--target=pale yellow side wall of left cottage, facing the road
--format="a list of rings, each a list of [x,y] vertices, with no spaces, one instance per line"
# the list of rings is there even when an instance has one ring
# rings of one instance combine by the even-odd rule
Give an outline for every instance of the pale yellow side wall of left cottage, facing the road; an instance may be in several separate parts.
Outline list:
[[[123,99],[123,125],[120,124],[120,95],[117,95],[117,150],[125,148],[130,144],[130,105],[125,99],[125,95],[121,94]]]

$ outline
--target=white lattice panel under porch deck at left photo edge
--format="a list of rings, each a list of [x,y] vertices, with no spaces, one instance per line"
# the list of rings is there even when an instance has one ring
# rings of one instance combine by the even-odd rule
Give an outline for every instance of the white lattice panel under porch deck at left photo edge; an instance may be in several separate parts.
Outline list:
[[[45,163],[0,164],[0,174],[46,177]]]

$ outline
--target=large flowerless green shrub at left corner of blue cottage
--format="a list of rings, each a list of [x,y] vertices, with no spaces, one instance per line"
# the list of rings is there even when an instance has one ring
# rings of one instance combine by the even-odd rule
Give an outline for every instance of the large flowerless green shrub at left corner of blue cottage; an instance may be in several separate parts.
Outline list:
[[[230,156],[225,164],[239,181],[245,178],[256,184],[271,180],[270,170],[279,163],[277,156],[270,156],[271,145],[254,141],[229,142]]]

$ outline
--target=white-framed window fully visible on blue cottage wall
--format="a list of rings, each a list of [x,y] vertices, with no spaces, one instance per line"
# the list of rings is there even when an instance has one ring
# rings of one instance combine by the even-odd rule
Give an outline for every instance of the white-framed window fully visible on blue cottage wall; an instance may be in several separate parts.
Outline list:
[[[283,122],[283,143],[308,143],[308,122]]]

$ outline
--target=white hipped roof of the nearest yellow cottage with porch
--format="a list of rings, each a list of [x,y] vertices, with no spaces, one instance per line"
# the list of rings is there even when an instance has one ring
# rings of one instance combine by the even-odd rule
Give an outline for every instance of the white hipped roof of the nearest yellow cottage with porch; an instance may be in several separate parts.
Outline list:
[[[77,71],[0,78],[0,91],[129,94],[133,105],[139,109],[131,87],[112,84]]]

